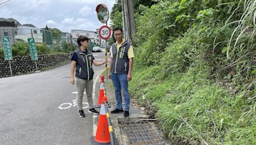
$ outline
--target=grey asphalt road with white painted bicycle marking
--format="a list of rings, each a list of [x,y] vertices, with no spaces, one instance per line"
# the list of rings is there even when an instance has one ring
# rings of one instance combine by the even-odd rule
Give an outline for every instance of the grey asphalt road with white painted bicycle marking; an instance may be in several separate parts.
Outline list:
[[[104,59],[103,52],[93,55],[100,62]],[[93,68],[96,78],[104,65]],[[71,106],[63,104],[68,102]],[[70,64],[0,78],[0,144],[90,144],[93,115],[87,111],[85,118],[78,116]]]

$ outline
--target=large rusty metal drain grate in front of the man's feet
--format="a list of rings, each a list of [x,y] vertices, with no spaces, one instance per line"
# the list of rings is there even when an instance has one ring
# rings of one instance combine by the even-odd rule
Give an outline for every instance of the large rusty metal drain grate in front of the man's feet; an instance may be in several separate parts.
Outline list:
[[[156,128],[148,121],[124,121],[121,127],[124,128],[130,144],[164,144],[163,139],[157,134]]]

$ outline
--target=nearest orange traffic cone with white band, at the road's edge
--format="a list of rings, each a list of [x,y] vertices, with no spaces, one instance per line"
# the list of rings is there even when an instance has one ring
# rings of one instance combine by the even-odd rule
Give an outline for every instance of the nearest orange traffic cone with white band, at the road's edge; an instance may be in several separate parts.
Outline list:
[[[106,109],[104,106],[106,97],[102,98],[102,104],[100,107],[99,121],[97,126],[96,136],[91,137],[91,144],[110,144],[110,136],[108,129],[108,119],[106,116]]]

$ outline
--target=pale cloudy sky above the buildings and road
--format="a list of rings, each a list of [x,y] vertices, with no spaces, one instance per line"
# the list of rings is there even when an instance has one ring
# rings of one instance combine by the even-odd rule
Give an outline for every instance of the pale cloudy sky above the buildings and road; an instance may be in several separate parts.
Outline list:
[[[104,25],[97,18],[98,4],[106,4],[110,15],[115,0],[0,0],[0,18],[15,18],[20,24],[38,28],[47,25],[62,32],[96,31]]]

